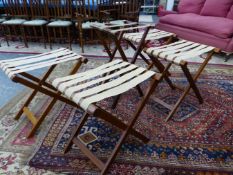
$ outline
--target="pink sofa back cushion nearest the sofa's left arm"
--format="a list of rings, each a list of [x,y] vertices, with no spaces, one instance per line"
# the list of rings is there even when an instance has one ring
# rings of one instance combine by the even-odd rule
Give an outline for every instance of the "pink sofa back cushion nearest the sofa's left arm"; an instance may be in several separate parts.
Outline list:
[[[205,1],[206,0],[180,0],[178,12],[200,14]]]

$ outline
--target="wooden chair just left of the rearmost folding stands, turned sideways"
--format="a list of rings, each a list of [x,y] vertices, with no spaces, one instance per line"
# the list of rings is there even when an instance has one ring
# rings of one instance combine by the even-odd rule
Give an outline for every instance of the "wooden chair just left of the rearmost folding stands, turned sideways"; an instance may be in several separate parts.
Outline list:
[[[79,33],[79,43],[82,53],[84,52],[84,31],[89,31],[90,40],[93,42],[93,30],[91,24],[99,21],[99,0],[76,0],[74,1],[76,9],[76,23],[75,26]]]

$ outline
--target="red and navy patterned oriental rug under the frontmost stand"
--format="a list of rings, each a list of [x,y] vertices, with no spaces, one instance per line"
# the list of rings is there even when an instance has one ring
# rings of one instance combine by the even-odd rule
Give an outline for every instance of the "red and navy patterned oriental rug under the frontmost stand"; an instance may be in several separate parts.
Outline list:
[[[95,67],[102,61],[95,61]],[[196,64],[191,69],[196,69]],[[184,85],[180,70],[173,69],[174,81]],[[143,89],[147,82],[143,84]],[[151,141],[143,144],[130,136],[121,148],[109,174],[232,174],[233,172],[233,68],[209,65],[198,81],[204,104],[194,96],[185,99],[179,111],[169,122],[166,108],[150,99],[135,128]],[[153,96],[174,104],[178,91],[161,83]],[[135,90],[122,96],[112,112],[124,121],[129,120],[139,101]],[[111,110],[112,99],[99,105]],[[36,168],[73,174],[99,174],[99,170],[73,147],[63,154],[64,146],[83,112],[64,105],[41,142],[29,165]],[[101,159],[106,160],[120,132],[109,124],[91,117],[82,133],[91,131],[98,140],[88,145]]]

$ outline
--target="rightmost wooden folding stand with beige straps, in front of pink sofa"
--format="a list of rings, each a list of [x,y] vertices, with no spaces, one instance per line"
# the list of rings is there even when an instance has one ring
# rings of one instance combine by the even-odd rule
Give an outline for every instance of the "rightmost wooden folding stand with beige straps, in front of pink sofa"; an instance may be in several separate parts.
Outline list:
[[[184,98],[188,95],[190,89],[194,91],[199,103],[203,103],[203,98],[201,97],[200,91],[196,85],[196,81],[212,58],[213,54],[219,51],[219,49],[214,47],[186,40],[179,40],[168,45],[145,49],[145,52],[150,56],[151,60],[155,64],[160,62],[159,59],[166,60],[168,62],[165,71],[168,71],[172,64],[180,66],[188,81],[188,85],[185,87],[185,89],[176,86],[176,88],[183,90],[184,92],[174,106],[161,102],[159,99],[157,100],[157,102],[161,103],[170,110],[169,115],[166,117],[166,121],[168,121],[175,114]],[[194,75],[192,75],[188,69],[189,60],[187,59],[202,56],[203,54],[207,54],[207,56],[202,58],[203,62],[200,64],[199,69]]]

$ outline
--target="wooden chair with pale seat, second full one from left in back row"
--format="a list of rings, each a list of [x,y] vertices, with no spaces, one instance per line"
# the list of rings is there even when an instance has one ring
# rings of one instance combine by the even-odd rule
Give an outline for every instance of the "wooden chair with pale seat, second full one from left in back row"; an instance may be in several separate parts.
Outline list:
[[[48,23],[48,14],[44,0],[30,0],[31,20],[22,24],[24,28],[25,44],[28,47],[27,39],[42,39],[46,48],[45,25]]]

